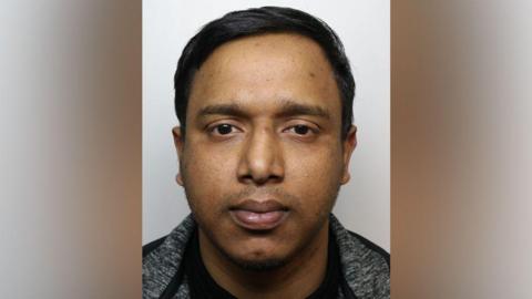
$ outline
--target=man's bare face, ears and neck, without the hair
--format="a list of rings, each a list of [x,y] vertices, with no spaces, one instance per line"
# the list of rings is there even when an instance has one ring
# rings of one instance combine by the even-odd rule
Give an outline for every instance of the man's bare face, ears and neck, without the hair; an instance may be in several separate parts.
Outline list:
[[[332,69],[313,40],[238,39],[196,73],[173,130],[204,264],[238,298],[304,298],[327,266],[328,215],[349,181]],[[262,269],[262,270],[259,270]]]

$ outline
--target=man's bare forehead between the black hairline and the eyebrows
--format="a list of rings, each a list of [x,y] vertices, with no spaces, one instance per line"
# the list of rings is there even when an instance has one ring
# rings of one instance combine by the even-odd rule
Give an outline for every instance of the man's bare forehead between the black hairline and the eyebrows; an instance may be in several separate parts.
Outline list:
[[[204,62],[193,81],[188,115],[231,102],[265,112],[287,99],[340,114],[338,86],[324,51],[298,34],[248,37],[221,45]]]

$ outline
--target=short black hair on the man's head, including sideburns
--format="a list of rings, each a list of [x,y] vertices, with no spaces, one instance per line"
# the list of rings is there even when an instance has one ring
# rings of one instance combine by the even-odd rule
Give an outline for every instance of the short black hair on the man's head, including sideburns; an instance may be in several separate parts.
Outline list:
[[[186,109],[194,75],[211,53],[223,43],[238,38],[280,32],[310,38],[324,50],[340,92],[341,137],[347,137],[352,123],[355,80],[340,39],[324,21],[300,10],[279,7],[229,12],[207,23],[188,41],[174,75],[175,113],[183,135],[186,131]]]

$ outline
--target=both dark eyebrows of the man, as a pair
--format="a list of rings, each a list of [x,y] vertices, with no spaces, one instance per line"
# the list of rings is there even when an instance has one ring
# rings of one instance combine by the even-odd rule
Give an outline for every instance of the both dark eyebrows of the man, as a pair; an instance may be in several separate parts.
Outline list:
[[[198,117],[208,115],[231,115],[236,117],[249,117],[249,113],[236,103],[213,104],[204,106],[197,113]],[[280,100],[280,109],[275,113],[276,117],[289,117],[296,115],[310,115],[330,120],[330,113],[318,105],[300,104],[294,100]]]

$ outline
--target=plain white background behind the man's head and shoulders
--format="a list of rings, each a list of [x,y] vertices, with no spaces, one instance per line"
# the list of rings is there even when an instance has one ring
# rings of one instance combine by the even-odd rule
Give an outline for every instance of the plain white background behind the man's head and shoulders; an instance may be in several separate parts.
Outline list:
[[[389,1],[143,1],[143,227],[146,244],[168,234],[190,213],[175,183],[177,157],[171,130],[173,75],[181,52],[202,25],[249,7],[301,9],[340,37],[357,84],[358,146],[351,181],[335,215],[382,248],[390,248],[390,12]]]

